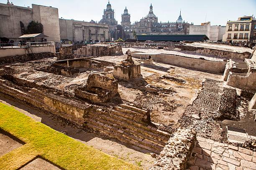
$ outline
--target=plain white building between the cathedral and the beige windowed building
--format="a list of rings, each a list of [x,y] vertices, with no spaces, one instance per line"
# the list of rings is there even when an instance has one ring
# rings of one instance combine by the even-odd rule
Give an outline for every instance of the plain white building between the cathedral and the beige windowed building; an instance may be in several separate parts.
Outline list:
[[[210,22],[201,23],[201,25],[190,25],[189,35],[206,35],[212,42],[222,40],[225,34],[226,26],[212,25]]]

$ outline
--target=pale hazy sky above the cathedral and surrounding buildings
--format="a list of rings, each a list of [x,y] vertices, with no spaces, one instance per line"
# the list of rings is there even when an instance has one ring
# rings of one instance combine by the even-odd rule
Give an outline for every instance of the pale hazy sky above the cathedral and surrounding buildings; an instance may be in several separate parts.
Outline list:
[[[7,0],[0,0],[6,3]],[[59,18],[99,21],[108,0],[10,0],[14,5],[31,4],[52,6],[59,9]],[[237,20],[243,15],[256,15],[256,0],[110,0],[115,10],[115,19],[121,22],[121,14],[127,6],[131,22],[139,21],[148,14],[150,3],[158,21],[175,22],[181,9],[186,22],[200,25],[210,21],[211,25],[226,25],[228,20]]]

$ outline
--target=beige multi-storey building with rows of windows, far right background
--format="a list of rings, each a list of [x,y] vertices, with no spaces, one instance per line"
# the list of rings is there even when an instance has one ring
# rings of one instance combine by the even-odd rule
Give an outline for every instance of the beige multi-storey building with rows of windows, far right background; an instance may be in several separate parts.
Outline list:
[[[236,21],[228,21],[225,34],[223,35],[223,41],[249,41],[252,21],[252,16],[243,16],[239,17]]]

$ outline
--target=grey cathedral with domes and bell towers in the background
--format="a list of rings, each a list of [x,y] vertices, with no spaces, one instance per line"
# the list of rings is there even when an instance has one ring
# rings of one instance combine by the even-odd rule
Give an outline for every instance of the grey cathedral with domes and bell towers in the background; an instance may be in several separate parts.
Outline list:
[[[107,8],[104,9],[102,19],[99,23],[109,25],[110,40],[117,40],[118,38],[136,39],[136,34],[146,35],[188,35],[189,25],[182,19],[181,12],[176,22],[158,22],[158,17],[153,12],[152,4],[149,7],[148,14],[141,18],[140,21],[131,24],[131,14],[125,7],[121,15],[121,25],[118,25],[115,20],[114,10],[108,2]]]

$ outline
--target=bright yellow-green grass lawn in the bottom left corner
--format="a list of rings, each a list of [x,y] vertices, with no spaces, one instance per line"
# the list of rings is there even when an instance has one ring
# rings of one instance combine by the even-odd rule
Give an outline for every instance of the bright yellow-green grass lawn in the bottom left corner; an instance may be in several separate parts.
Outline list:
[[[68,170],[135,170],[139,167],[107,155],[65,134],[35,122],[30,117],[0,103],[0,129],[26,144],[0,157],[0,169],[17,169],[41,156]]]

